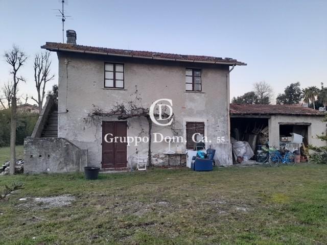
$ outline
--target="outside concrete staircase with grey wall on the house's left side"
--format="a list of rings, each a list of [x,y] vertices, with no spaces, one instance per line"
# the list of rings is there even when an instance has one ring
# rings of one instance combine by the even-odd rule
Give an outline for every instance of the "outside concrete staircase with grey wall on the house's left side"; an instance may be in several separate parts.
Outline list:
[[[62,112],[59,112],[62,113]],[[46,97],[31,137],[24,139],[24,174],[84,171],[87,149],[58,138],[58,100]]]

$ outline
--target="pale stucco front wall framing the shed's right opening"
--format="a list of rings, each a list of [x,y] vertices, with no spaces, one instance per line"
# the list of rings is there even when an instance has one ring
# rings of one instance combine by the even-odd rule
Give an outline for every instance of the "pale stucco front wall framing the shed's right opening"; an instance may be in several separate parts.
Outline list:
[[[316,135],[325,134],[326,123],[322,122],[322,116],[288,116],[288,115],[272,115],[269,118],[269,144],[279,146],[279,122],[294,124],[296,122],[306,122],[308,126],[309,144],[316,146],[324,146],[325,143],[316,138]]]

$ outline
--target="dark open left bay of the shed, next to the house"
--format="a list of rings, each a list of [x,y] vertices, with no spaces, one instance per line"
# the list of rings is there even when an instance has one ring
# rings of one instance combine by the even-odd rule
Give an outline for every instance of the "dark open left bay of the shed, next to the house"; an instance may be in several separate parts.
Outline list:
[[[266,145],[269,141],[268,119],[264,117],[231,117],[230,136],[232,141],[247,141],[253,150],[255,159],[258,145]],[[235,155],[233,155],[235,158]],[[233,159],[236,163],[236,159]]]

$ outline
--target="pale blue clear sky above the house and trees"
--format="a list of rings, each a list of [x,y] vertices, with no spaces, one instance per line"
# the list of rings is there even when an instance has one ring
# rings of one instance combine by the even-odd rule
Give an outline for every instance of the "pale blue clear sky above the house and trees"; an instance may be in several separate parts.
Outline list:
[[[266,81],[275,95],[293,82],[327,85],[327,1],[81,1],[64,5],[77,43],[165,53],[231,57],[231,97]],[[29,55],[19,93],[35,95],[33,55],[61,42],[61,0],[0,0],[0,86],[10,79],[3,54],[13,43]],[[52,54],[58,78],[58,61]],[[31,101],[30,101],[31,102]]]

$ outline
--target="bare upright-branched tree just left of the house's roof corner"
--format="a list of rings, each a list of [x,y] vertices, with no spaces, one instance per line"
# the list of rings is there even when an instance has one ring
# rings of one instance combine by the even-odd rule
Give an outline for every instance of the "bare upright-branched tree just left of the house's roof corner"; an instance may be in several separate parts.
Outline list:
[[[37,103],[40,114],[42,111],[43,100],[45,95],[45,84],[55,77],[55,75],[50,75],[50,66],[51,60],[49,51],[45,51],[44,53],[35,55],[33,67],[35,87],[37,90],[37,100],[33,97],[32,100]]]

